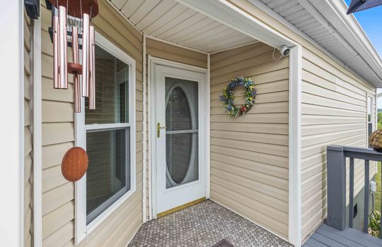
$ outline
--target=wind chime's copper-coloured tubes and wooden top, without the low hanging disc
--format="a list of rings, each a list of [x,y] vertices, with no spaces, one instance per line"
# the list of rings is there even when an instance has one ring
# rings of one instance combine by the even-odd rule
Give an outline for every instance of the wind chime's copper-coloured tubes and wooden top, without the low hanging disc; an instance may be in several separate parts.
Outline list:
[[[96,109],[95,37],[91,19],[98,14],[97,0],[49,0],[52,4],[53,87],[68,88],[68,73],[74,79],[74,112],[81,112],[81,96],[89,109]],[[68,62],[67,47],[73,62]],[[79,62],[82,49],[82,64]],[[80,76],[82,83],[80,82]]]

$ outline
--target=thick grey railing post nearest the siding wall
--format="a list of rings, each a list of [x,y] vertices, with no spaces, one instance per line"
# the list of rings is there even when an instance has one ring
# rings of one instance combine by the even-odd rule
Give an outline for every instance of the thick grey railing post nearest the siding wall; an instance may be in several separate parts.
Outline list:
[[[328,176],[328,226],[346,227],[346,158],[344,148],[328,146],[326,154]]]

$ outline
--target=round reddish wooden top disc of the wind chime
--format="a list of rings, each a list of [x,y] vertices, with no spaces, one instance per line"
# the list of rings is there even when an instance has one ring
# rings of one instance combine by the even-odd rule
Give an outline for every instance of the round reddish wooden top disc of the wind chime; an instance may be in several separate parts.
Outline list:
[[[98,15],[97,0],[49,0],[50,3],[58,8],[64,6],[67,8],[68,15],[76,18],[82,18],[83,13],[87,13],[91,18]]]

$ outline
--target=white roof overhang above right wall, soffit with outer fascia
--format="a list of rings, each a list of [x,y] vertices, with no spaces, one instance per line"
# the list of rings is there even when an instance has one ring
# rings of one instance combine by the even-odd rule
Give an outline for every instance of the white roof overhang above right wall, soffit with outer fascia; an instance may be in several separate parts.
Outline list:
[[[254,4],[258,0],[250,1]],[[335,0],[338,3],[334,6],[332,0],[260,1],[366,81],[382,87],[381,59],[357,20],[346,16],[345,2]]]

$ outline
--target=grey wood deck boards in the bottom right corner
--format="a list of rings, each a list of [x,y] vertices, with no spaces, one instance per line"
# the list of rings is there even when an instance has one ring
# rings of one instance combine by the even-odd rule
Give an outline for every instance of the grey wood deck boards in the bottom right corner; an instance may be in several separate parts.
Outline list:
[[[382,239],[364,234],[362,231],[347,228],[345,231],[339,231],[322,224],[316,232],[303,244],[303,247],[381,247]]]

